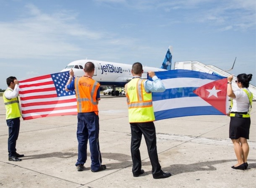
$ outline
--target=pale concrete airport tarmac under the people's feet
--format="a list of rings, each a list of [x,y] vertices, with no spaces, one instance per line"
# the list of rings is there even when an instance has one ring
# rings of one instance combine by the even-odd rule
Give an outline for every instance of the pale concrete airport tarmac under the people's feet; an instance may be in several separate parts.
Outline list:
[[[251,111],[247,170],[236,164],[229,139],[230,117],[188,116],[155,121],[158,159],[172,174],[153,179],[145,140],[140,153],[145,173],[133,177],[131,130],[125,96],[101,96],[99,143],[107,169],[93,173],[90,150],[84,171],[77,171],[77,117],[55,116],[22,120],[17,152],[8,161],[8,126],[0,97],[0,188],[252,188],[256,186],[256,102]]]

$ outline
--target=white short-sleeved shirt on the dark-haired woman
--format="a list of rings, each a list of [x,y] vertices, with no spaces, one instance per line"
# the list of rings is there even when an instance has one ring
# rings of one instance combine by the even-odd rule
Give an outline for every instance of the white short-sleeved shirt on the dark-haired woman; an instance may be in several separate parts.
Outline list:
[[[242,88],[242,89],[246,89],[250,93],[248,88]],[[249,111],[250,101],[249,101],[248,95],[242,89],[238,89],[234,91],[236,98],[233,98],[233,107],[231,108],[231,111],[233,112]]]

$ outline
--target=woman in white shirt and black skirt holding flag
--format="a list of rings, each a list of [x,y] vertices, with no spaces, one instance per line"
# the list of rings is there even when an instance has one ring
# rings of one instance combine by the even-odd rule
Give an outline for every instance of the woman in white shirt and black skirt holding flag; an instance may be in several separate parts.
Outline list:
[[[233,75],[230,75],[227,80],[227,95],[231,98],[230,114],[230,127],[229,138],[234,144],[234,150],[237,164],[232,166],[234,169],[244,170],[247,169],[247,156],[249,153],[249,129],[251,124],[249,110],[252,103],[252,93],[248,90],[249,82],[251,81],[252,74],[239,74],[237,76],[236,84],[239,89],[233,91],[231,81]]]

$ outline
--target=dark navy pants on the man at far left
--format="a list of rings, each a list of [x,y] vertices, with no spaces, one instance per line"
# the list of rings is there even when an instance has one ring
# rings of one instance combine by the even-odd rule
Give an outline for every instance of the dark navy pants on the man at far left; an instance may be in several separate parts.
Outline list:
[[[20,118],[7,119],[6,122],[9,127],[8,153],[9,157],[11,157],[16,153],[16,140],[20,131]]]

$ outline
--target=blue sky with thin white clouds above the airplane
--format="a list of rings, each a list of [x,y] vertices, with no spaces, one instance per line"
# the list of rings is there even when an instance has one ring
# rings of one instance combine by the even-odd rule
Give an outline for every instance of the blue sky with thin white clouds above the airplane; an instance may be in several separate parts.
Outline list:
[[[253,74],[255,0],[0,0],[0,89],[79,59],[160,67],[198,61]]]

